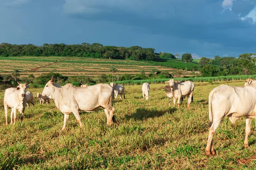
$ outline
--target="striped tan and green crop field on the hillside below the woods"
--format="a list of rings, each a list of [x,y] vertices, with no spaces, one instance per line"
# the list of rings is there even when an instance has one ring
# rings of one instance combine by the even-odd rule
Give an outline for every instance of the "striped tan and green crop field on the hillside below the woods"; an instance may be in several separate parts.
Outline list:
[[[34,74],[35,77],[38,77],[43,73],[52,71],[65,76],[84,75],[93,78],[99,74],[111,74],[109,71],[111,66],[117,68],[116,75],[140,74],[142,70],[149,74],[152,69],[168,71],[169,73],[177,71],[177,69],[168,66],[134,60],[84,57],[0,57],[1,74],[12,74],[13,69],[19,69],[21,77],[28,74]]]

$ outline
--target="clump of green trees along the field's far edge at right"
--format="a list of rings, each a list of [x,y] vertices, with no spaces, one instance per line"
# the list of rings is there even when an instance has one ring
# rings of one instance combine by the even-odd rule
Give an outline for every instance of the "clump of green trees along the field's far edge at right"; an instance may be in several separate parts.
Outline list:
[[[256,74],[256,54],[241,54],[235,57],[219,57],[214,59],[202,57],[199,62],[202,77]]]

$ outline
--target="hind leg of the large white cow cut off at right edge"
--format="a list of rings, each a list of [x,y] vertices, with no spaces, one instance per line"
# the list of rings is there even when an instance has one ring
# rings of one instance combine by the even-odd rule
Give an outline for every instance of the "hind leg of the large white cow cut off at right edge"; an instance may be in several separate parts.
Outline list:
[[[208,136],[208,141],[207,141],[207,146],[205,148],[206,151],[206,155],[215,155],[215,151],[213,149],[213,143],[212,143],[212,139],[213,139],[213,135],[215,133],[215,130],[218,128],[218,126],[220,125],[221,119],[214,119],[212,122],[211,127],[209,127],[209,136]]]

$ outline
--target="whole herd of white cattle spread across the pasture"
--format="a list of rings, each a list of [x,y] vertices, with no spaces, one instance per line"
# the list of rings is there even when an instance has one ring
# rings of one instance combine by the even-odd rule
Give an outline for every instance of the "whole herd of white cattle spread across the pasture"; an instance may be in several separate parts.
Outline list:
[[[4,108],[6,116],[6,125],[8,108],[12,108],[11,111],[11,123],[14,124],[17,120],[17,111],[20,112],[20,121],[23,121],[23,114],[29,103],[34,105],[33,94],[26,89],[29,87],[28,84],[18,83],[17,88],[8,88],[4,94]],[[171,104],[171,98],[173,97],[173,103],[175,105],[177,99],[178,107],[182,104],[183,99],[187,96],[188,103],[187,108],[193,101],[193,93],[195,85],[191,81],[175,81],[170,79],[166,81],[168,85],[161,87],[165,89],[166,96],[169,97],[169,105]],[[150,87],[148,83],[143,83],[142,94],[143,99],[147,101],[151,97],[149,96]],[[97,108],[104,108],[104,112],[107,117],[107,125],[111,125],[114,122],[114,111],[113,99],[116,100],[117,96],[120,95],[119,99],[124,96],[125,99],[125,87],[123,85],[116,85],[113,82],[108,84],[97,84],[88,86],[81,85],[81,88],[73,86],[69,83],[64,86],[58,85],[54,82],[54,77],[50,79],[42,92],[37,93],[37,98],[40,104],[46,102],[49,103],[49,99],[53,99],[56,107],[64,114],[64,124],[62,130],[67,125],[67,120],[70,113],[73,113],[76,117],[80,127],[82,127],[81,118],[79,111],[93,112]],[[244,140],[244,147],[248,147],[248,135],[250,133],[251,119],[256,119],[256,81],[247,79],[244,86],[228,86],[220,85],[214,88],[209,94],[209,136],[206,147],[206,154],[215,154],[213,149],[213,135],[215,130],[219,126],[220,122],[224,117],[228,117],[232,124],[235,124],[239,117],[246,117],[246,134]],[[85,97],[87,96],[87,97]]]

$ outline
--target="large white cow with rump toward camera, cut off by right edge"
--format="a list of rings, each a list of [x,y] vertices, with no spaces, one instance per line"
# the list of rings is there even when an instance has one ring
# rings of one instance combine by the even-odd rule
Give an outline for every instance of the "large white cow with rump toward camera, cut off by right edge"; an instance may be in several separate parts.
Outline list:
[[[220,85],[209,94],[209,136],[206,154],[215,154],[213,149],[213,135],[221,119],[228,116],[232,124],[239,117],[246,117],[244,147],[248,147],[251,118],[256,119],[256,81],[250,85],[236,87]]]

